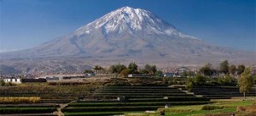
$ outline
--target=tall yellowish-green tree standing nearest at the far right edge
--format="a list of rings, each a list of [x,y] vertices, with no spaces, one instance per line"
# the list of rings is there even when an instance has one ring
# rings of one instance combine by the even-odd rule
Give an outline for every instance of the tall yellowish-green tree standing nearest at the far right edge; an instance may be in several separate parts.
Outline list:
[[[253,87],[253,76],[251,74],[251,69],[244,69],[241,76],[238,78],[239,91],[243,93],[244,99],[246,98],[246,93],[249,92]]]

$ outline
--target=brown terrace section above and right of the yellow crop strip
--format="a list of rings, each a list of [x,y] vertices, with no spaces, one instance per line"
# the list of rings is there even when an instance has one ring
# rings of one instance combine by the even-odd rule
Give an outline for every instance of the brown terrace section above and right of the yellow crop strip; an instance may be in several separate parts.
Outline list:
[[[90,91],[94,90],[87,86],[3,86],[0,97],[40,97],[37,103],[68,103]]]

